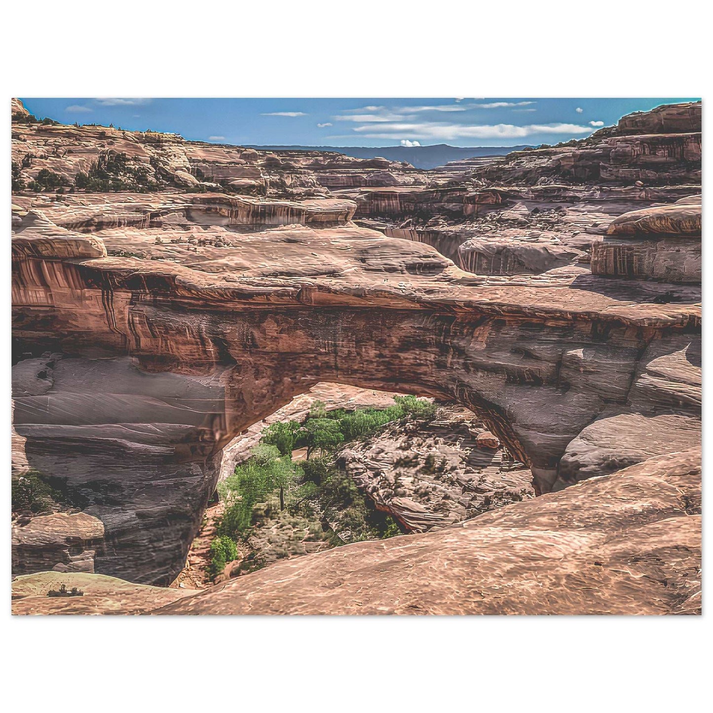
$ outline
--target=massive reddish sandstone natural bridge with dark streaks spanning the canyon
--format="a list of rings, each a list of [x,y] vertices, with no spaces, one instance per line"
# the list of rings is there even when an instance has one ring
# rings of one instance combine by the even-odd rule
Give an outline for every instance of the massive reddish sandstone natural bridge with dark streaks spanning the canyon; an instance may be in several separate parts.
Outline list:
[[[230,438],[317,381],[456,399],[546,491],[583,429],[632,409],[651,344],[699,339],[695,287],[479,278],[353,225],[241,235],[207,265],[181,245],[171,262],[151,245],[161,259],[106,257],[101,233],[30,217],[15,428],[103,520],[97,571],[142,583],[180,570]]]

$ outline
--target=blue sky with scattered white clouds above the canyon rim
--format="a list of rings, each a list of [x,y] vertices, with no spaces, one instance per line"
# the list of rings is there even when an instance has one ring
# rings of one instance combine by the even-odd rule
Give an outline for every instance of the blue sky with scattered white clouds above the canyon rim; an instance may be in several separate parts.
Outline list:
[[[237,145],[512,146],[585,138],[632,111],[692,98],[23,98],[61,123],[113,123]]]

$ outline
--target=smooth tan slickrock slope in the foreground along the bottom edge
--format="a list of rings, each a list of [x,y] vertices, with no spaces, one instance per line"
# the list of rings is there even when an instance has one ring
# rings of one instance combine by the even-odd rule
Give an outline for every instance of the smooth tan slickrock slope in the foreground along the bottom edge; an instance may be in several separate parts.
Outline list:
[[[14,583],[23,598],[13,611],[699,614],[700,496],[700,451],[672,453],[461,525],[282,561],[196,595],[62,575],[86,595],[53,600],[42,596],[48,575],[29,575]]]

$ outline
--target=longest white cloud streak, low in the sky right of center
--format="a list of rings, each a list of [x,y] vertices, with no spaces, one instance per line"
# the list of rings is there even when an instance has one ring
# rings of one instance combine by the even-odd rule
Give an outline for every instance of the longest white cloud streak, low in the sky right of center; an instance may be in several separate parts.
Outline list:
[[[353,131],[366,138],[396,139],[399,135],[409,134],[419,139],[455,140],[459,138],[508,139],[525,138],[533,134],[588,134],[590,126],[577,124],[495,124],[468,126],[438,122],[424,123],[389,123],[386,125],[355,126]]]

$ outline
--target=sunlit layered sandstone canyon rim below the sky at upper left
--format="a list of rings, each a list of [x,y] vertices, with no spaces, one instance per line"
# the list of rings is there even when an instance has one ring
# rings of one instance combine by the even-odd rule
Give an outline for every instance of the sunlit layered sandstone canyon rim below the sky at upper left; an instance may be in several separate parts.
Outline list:
[[[29,112],[14,99],[14,116]],[[144,170],[150,190],[190,187],[200,190],[221,188],[232,193],[300,198],[321,193],[316,176],[322,172],[372,176],[376,171],[403,175],[410,182],[409,164],[384,158],[363,160],[319,151],[256,151],[225,144],[186,141],[178,134],[155,131],[125,131],[113,126],[43,125],[14,121],[12,160],[22,178],[29,182],[41,170],[58,174],[67,186],[79,173],[89,173],[101,158],[125,154],[130,168]],[[369,179],[370,185],[391,185],[389,179]],[[329,182],[327,182],[329,183]],[[218,185],[220,184],[220,185]],[[324,185],[327,185],[326,183]],[[363,185],[358,183],[355,185]],[[202,188],[201,188],[202,187]]]

